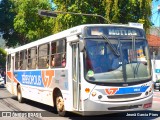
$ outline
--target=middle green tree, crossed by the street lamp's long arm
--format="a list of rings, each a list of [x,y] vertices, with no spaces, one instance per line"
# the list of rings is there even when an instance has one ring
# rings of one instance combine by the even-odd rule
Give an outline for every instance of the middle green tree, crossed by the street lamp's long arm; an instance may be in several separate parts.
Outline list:
[[[58,7],[57,11],[105,15],[102,12],[104,11],[102,0],[54,0],[54,2]],[[104,20],[98,17],[60,14],[56,18],[54,31],[57,32],[73,26],[91,23],[104,23]]]

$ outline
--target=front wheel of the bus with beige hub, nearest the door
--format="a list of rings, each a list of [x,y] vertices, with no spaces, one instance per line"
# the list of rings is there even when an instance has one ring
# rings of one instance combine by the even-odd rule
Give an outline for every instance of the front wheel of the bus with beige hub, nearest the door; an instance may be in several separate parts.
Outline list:
[[[60,92],[57,93],[57,96],[56,96],[56,109],[59,116],[64,117],[67,115],[67,112],[65,111],[64,100]]]

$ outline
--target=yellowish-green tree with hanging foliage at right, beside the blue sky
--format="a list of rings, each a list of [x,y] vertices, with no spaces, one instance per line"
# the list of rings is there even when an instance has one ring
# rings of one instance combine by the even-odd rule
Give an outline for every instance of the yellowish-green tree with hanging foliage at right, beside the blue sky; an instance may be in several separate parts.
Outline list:
[[[152,0],[105,0],[105,16],[112,23],[139,22],[147,30],[151,26]]]

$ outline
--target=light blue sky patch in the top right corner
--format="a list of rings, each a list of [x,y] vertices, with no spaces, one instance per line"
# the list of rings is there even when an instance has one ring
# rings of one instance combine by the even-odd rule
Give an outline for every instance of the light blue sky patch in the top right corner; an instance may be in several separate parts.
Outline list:
[[[156,27],[160,27],[160,8],[158,9],[158,6],[160,7],[160,0],[153,0],[151,21]]]

